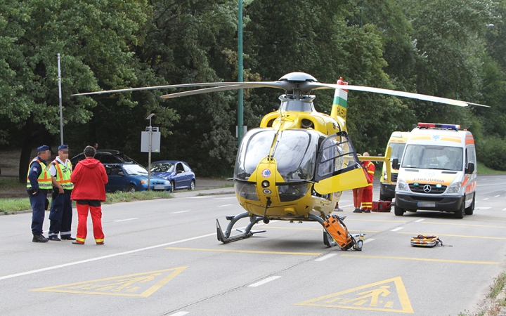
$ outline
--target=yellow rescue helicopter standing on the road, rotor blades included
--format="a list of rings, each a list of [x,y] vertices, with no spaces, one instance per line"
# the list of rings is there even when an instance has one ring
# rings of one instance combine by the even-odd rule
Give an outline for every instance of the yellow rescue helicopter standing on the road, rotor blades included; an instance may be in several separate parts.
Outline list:
[[[235,195],[245,211],[235,216],[226,216],[229,223],[225,231],[216,219],[217,237],[223,243],[265,232],[252,230],[261,220],[266,224],[270,220],[297,220],[323,225],[325,218],[334,211],[342,191],[367,185],[360,160],[346,132],[347,91],[383,93],[457,106],[479,105],[417,93],[351,86],[342,79],[337,84],[323,84],[304,72],[285,74],[278,81],[177,84],[79,93],[74,96],[199,86],[211,88],[171,93],[162,98],[239,88],[270,87],[285,90],[285,94],[279,97],[279,110],[266,114],[259,128],[248,131],[240,143],[233,180]],[[315,96],[310,93],[320,89],[335,89],[330,115],[316,112],[313,105]],[[389,162],[390,153],[387,152],[384,157],[362,159]],[[389,174],[390,164],[385,165]],[[239,235],[231,236],[233,226],[241,218],[249,218],[249,224],[244,230],[239,230]],[[325,230],[323,242],[327,246],[337,245]]]

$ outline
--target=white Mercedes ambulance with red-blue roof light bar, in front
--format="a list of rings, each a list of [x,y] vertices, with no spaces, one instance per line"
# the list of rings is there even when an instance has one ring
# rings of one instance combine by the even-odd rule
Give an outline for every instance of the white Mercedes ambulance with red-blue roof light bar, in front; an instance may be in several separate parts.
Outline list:
[[[474,211],[476,152],[469,131],[459,125],[418,123],[411,131],[399,167],[395,214],[430,210],[455,213]]]

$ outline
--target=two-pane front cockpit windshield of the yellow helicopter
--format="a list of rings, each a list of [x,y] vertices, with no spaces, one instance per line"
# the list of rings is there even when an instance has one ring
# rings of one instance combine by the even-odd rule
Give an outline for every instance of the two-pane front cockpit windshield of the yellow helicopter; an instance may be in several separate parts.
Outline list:
[[[268,156],[276,131],[252,129],[246,133],[235,163],[234,178],[248,180],[261,159]],[[311,180],[314,176],[320,134],[309,130],[280,131],[273,156],[285,182]]]

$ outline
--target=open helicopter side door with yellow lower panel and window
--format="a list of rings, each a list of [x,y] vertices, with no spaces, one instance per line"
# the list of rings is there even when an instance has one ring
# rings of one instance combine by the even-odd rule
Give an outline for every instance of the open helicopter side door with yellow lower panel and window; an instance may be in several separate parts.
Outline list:
[[[320,144],[314,179],[314,190],[320,195],[368,185],[346,131],[332,134]]]

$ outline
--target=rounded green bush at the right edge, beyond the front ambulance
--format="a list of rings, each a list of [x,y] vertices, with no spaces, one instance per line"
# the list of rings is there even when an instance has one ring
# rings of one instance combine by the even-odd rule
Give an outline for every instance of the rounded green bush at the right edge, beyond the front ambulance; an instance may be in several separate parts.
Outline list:
[[[506,171],[506,139],[484,136],[476,143],[476,156],[488,168]]]

